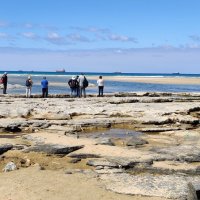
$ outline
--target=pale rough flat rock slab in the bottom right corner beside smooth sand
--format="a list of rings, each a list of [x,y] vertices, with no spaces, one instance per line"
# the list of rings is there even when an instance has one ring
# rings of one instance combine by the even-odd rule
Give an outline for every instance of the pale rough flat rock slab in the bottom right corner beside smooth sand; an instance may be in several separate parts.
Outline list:
[[[188,183],[200,183],[200,177],[186,177],[178,175],[153,176],[129,175],[125,173],[103,174],[106,189],[130,195],[144,195],[171,199],[186,199]]]

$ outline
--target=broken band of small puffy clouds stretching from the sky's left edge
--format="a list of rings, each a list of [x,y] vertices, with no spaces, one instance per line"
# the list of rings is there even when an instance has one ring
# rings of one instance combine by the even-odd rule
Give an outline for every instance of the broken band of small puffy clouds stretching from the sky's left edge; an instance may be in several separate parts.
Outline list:
[[[78,44],[81,42],[109,42],[109,41],[115,41],[117,42],[131,42],[131,43],[137,43],[137,40],[134,37],[129,37],[126,35],[120,35],[120,34],[112,34],[111,30],[108,28],[99,28],[95,26],[90,27],[71,27],[71,29],[76,30],[74,33],[68,33],[67,31],[63,29],[63,31],[66,31],[66,33],[62,32],[62,35],[58,32],[58,28],[55,26],[49,26],[44,24],[33,24],[30,22],[27,23],[5,23],[3,21],[0,21],[0,27],[7,26],[8,28],[22,28],[22,30],[25,30],[23,33],[18,34],[14,33],[13,35],[21,35],[26,39],[32,39],[32,40],[45,40],[48,41],[51,44],[54,45],[65,45],[65,44]],[[27,30],[26,30],[27,29]],[[34,31],[32,31],[34,29]],[[37,31],[37,35],[34,33]],[[44,36],[45,31],[49,31],[49,33]],[[82,34],[80,34],[82,32]],[[65,35],[65,36],[64,36]],[[6,36],[1,35],[1,39],[16,39],[16,36]],[[20,42],[20,41],[19,41]]]

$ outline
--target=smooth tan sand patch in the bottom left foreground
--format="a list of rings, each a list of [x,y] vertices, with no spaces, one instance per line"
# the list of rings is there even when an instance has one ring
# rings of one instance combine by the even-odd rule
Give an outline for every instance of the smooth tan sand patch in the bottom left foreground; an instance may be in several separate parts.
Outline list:
[[[64,171],[40,171],[29,167],[1,174],[0,200],[162,200],[106,191],[104,185],[91,175]],[[6,188],[10,189],[6,189]]]

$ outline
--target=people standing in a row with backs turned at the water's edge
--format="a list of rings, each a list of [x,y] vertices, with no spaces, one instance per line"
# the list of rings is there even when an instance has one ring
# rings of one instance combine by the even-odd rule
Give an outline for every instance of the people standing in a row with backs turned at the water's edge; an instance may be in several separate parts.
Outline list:
[[[7,72],[5,72],[1,78],[1,83],[3,84],[3,94],[6,94],[7,90],[7,83],[8,83],[8,77]],[[26,97],[31,97],[31,89],[33,86],[33,81],[31,79],[31,76],[28,76],[26,80]],[[42,87],[42,97],[46,98],[48,97],[48,80],[46,77],[43,77],[41,81],[41,87]],[[81,74],[80,76],[72,76],[72,78],[68,81],[68,85],[71,89],[71,97],[86,97],[86,88],[88,87],[88,80],[84,76],[84,74]],[[99,76],[99,79],[97,80],[98,85],[98,96],[103,96],[103,90],[104,90],[104,80],[102,76]]]

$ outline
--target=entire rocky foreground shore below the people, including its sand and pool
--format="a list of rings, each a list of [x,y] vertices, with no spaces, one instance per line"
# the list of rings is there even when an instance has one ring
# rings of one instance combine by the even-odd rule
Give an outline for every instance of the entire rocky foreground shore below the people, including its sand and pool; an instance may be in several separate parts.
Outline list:
[[[0,95],[0,199],[198,199],[200,93],[39,97]]]

